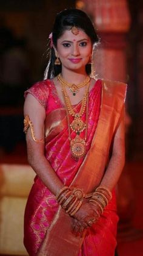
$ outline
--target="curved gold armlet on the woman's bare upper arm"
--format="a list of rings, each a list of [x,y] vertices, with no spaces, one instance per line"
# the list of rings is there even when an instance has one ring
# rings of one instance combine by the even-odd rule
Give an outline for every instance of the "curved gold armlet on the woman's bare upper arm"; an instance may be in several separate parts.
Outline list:
[[[33,123],[32,121],[30,121],[30,118],[28,115],[25,115],[24,117],[24,132],[27,133],[27,130],[28,128],[30,127],[31,129],[31,132],[32,132],[32,138],[35,142],[37,143],[44,143],[44,140],[43,138],[41,140],[38,140],[35,136],[35,130],[34,130],[34,127],[33,127]]]

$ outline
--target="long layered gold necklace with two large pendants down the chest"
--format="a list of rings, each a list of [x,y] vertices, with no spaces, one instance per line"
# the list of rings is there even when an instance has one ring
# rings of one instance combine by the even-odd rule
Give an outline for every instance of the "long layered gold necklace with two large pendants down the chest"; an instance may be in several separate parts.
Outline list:
[[[65,87],[68,87],[68,83],[63,79],[61,79],[61,75],[58,76],[59,82],[62,85],[62,93],[64,96],[65,108],[67,112],[67,123],[68,123],[68,137],[70,140],[70,149],[71,156],[78,160],[80,157],[83,157],[86,153],[86,141],[87,141],[87,129],[88,129],[88,94],[89,94],[89,86],[90,79],[88,83],[86,83],[87,87],[85,89],[84,97],[81,102],[81,108],[78,113],[75,112],[71,105],[70,98],[67,94]],[[78,85],[76,85],[78,87]],[[86,111],[86,113],[85,113]],[[81,117],[85,113],[85,122],[82,121]],[[73,116],[73,121],[70,123],[70,115]],[[76,133],[76,137],[74,139],[71,138],[71,130]],[[85,130],[84,138],[80,137],[80,133]]]

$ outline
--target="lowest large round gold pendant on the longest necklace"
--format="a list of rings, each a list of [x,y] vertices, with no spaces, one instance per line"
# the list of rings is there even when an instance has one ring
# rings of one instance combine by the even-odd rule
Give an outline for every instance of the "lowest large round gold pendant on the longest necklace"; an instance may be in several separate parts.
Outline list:
[[[80,157],[84,157],[86,152],[86,143],[79,135],[76,135],[75,139],[70,141],[72,157],[78,160]]]

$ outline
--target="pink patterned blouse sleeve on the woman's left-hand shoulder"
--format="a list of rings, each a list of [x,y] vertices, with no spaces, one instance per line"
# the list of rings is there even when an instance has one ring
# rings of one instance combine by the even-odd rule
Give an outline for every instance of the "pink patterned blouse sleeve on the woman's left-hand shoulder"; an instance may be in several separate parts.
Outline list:
[[[47,108],[49,88],[46,81],[38,82],[28,88],[24,93],[24,98],[26,98],[28,93],[32,94],[44,108]]]

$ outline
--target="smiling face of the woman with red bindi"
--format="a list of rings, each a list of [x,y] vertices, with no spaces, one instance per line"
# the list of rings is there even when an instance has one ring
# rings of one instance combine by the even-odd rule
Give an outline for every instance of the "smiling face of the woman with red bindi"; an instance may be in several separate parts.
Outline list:
[[[90,37],[81,29],[74,35],[71,30],[65,30],[57,41],[56,49],[62,63],[62,69],[85,70],[92,53]]]

